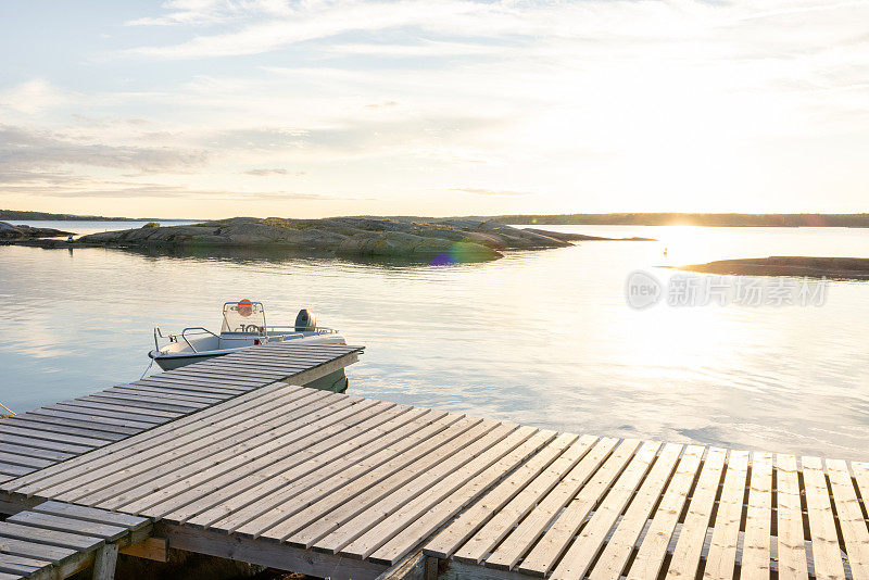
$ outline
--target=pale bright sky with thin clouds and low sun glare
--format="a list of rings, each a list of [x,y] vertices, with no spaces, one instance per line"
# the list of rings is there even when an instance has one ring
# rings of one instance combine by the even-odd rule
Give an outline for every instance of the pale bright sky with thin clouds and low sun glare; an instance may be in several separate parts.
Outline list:
[[[869,0],[3,0],[0,53],[2,209],[869,211]]]

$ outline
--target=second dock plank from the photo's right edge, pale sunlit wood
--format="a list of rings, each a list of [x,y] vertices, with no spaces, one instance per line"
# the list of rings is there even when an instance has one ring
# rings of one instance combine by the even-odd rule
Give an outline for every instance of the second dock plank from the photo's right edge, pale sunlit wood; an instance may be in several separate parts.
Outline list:
[[[866,527],[847,463],[841,459],[827,459],[827,474],[830,476],[833,502],[839,515],[842,538],[845,541],[852,577],[859,580],[869,579],[869,529]]]

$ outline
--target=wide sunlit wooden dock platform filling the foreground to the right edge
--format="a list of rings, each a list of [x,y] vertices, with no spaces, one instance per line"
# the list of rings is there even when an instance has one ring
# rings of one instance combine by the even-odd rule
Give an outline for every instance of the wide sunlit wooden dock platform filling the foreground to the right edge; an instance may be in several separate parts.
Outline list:
[[[268,380],[273,361],[232,356],[222,371]],[[214,369],[186,376],[200,365]],[[866,463],[556,433],[286,382],[0,483],[10,513],[63,502],[144,518],[171,547],[371,580],[862,580],[867,499]]]

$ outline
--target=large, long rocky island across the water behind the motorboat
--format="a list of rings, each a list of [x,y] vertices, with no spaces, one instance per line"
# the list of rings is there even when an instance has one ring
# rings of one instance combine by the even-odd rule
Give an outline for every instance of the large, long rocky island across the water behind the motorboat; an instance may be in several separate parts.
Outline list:
[[[420,260],[445,256],[448,261],[465,262],[501,257],[504,250],[562,248],[571,243],[493,222],[363,216],[323,219],[234,217],[169,227],[148,224],[141,228],[83,236],[64,245],[268,248]]]

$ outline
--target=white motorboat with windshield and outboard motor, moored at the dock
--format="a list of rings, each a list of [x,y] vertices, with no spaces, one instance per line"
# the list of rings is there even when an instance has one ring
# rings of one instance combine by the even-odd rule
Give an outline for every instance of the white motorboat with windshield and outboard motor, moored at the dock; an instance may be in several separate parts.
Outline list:
[[[160,345],[160,339],[168,343]],[[344,338],[331,328],[317,326],[316,318],[307,310],[299,311],[292,326],[268,326],[262,302],[240,300],[227,302],[223,308],[221,333],[203,327],[185,328],[176,335],[164,336],[154,328],[155,349],[148,353],[163,370],[172,370],[206,358],[231,354],[256,344],[292,342],[293,344],[345,344]],[[340,371],[343,377],[343,370]],[[324,377],[327,379],[328,377]],[[332,377],[340,379],[340,377]],[[347,387],[332,381],[329,390],[342,391]],[[328,382],[328,381],[327,381]]]

